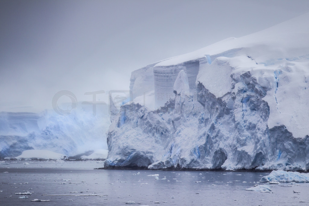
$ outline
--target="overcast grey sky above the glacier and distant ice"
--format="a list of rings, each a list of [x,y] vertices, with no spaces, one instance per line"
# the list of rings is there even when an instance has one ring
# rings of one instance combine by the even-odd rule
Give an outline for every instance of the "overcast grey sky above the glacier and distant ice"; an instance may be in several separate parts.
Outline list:
[[[78,101],[128,90],[135,69],[307,12],[308,0],[1,0],[0,111],[51,108],[60,90]]]

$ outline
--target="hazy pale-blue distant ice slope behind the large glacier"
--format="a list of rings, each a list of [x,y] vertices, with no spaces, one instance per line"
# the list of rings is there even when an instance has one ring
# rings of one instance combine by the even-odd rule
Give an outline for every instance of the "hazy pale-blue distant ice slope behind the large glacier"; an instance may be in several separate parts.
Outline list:
[[[109,124],[107,112],[98,108],[93,116],[92,105],[78,107],[65,116],[53,110],[38,114],[0,112],[0,158],[16,157],[29,149],[50,150],[67,157],[106,149]]]

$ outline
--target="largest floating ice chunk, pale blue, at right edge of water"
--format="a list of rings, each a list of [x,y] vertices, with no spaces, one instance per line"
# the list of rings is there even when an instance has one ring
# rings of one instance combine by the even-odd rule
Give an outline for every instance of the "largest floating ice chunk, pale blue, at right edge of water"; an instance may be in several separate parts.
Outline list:
[[[260,182],[309,183],[309,174],[273,170],[269,175],[262,177]]]

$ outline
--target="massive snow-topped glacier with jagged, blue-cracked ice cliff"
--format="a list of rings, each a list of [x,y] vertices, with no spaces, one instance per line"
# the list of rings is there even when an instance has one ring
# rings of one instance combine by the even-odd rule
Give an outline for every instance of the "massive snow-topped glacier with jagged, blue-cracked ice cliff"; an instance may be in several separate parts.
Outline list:
[[[134,71],[105,166],[309,169],[308,19]]]

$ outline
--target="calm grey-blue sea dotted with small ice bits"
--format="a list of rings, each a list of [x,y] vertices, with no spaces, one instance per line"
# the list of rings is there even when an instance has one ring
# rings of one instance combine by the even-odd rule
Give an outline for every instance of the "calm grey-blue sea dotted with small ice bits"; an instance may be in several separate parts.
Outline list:
[[[269,173],[94,170],[102,166],[97,161],[0,161],[0,205],[309,205],[308,183],[271,185],[271,193],[245,190]],[[159,179],[147,176],[154,174]],[[15,195],[27,191],[33,192],[28,199]]]

